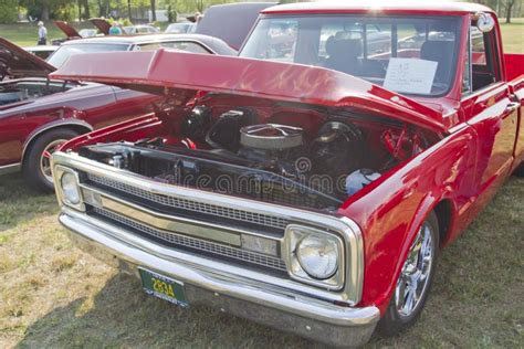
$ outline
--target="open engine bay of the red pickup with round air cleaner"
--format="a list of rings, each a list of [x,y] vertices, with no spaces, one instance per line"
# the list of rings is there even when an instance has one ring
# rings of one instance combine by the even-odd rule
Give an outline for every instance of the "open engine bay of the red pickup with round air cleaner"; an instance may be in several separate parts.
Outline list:
[[[161,134],[78,155],[164,183],[334,211],[430,142],[390,119],[296,106],[200,104],[157,114]]]

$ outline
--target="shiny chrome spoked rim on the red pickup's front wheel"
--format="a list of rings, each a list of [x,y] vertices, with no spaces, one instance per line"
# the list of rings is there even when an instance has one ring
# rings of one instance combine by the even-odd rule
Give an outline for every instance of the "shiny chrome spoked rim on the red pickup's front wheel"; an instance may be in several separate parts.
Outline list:
[[[400,272],[395,305],[401,318],[409,318],[416,313],[428,288],[436,250],[432,230],[428,222],[422,224]]]

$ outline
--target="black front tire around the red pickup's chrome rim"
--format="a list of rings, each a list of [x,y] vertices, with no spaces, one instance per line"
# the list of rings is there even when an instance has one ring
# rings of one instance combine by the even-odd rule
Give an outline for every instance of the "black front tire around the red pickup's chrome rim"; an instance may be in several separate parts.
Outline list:
[[[413,310],[409,315],[401,315],[399,310],[397,309],[397,302],[396,302],[396,295],[397,295],[397,285],[400,283],[400,277],[396,283],[396,289],[394,292],[394,295],[391,297],[391,300],[389,302],[388,309],[386,310],[386,314],[382,316],[380,321],[378,322],[377,330],[379,335],[384,337],[391,337],[396,336],[409,327],[411,327],[419,318],[420,314],[422,313],[422,309],[426,305],[426,300],[428,299],[428,295],[431,289],[431,284],[433,283],[433,277],[434,277],[434,272],[436,272],[436,265],[437,265],[437,256],[439,252],[439,221],[437,219],[437,215],[434,212],[431,212],[428,218],[425,221],[425,224],[428,224],[428,226],[431,228],[431,242],[432,242],[432,262],[429,267],[429,276],[428,281],[426,283],[426,286],[422,289],[422,294],[419,297],[419,302],[417,305],[413,307]],[[423,226],[423,225],[422,225]],[[405,262],[407,263],[407,261]]]

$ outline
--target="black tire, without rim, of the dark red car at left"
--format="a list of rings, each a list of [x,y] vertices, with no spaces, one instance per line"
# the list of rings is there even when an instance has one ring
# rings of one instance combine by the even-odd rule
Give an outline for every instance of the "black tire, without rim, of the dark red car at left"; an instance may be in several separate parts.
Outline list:
[[[78,135],[77,131],[71,128],[55,128],[38,136],[24,157],[22,172],[25,182],[35,190],[53,192],[53,182],[50,181],[49,176],[45,176],[41,166],[44,150],[53,142],[70,140]]]

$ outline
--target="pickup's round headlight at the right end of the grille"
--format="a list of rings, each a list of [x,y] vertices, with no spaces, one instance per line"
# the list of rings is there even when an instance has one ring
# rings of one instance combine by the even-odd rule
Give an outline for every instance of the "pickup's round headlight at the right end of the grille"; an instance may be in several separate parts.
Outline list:
[[[331,239],[305,236],[296,247],[296,257],[304,272],[314,278],[329,278],[338,268],[337,243]]]

